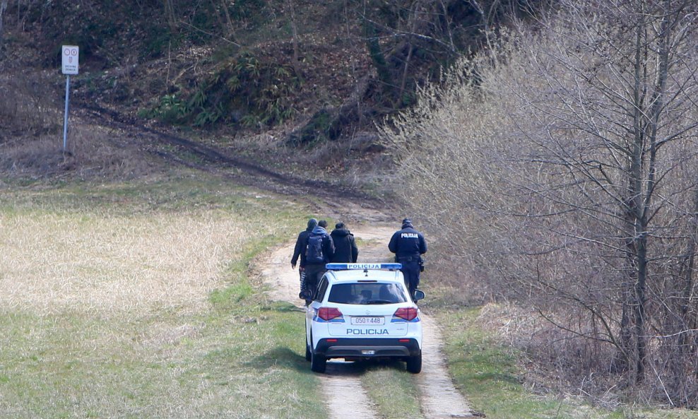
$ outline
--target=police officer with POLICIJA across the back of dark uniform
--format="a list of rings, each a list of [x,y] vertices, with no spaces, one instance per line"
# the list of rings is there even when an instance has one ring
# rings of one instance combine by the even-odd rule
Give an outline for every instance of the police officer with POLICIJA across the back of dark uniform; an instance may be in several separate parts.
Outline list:
[[[405,283],[414,299],[415,290],[419,285],[422,254],[427,252],[427,242],[422,233],[415,230],[412,220],[402,220],[402,230],[393,234],[388,243],[388,249],[395,254],[395,261],[402,264],[400,269],[405,276]]]

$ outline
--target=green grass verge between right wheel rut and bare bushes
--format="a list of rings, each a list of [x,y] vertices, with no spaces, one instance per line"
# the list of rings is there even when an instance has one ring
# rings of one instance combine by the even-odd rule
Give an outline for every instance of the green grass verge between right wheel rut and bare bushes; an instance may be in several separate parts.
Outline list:
[[[527,378],[536,374],[533,360],[512,345],[507,333],[514,310],[500,305],[471,308],[439,307],[449,371],[466,394],[473,411],[494,419],[694,419],[698,413],[670,406],[623,403],[570,389],[551,391]],[[529,318],[519,321],[531,321]],[[567,379],[560,368],[557,380]],[[536,383],[540,384],[540,383]]]

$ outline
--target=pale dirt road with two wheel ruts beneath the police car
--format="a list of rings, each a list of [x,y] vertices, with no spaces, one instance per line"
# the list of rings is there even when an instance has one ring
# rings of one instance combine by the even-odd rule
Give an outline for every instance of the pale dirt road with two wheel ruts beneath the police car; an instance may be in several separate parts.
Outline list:
[[[389,261],[387,243],[395,226],[377,223],[370,225],[352,224],[350,230],[359,242],[359,261]],[[272,300],[288,301],[304,309],[298,298],[298,271],[292,270],[290,259],[295,243],[278,247],[265,260],[261,271],[264,281],[271,288]],[[427,296],[428,297],[428,296]],[[449,377],[442,353],[441,332],[436,321],[422,313],[424,338],[422,345],[422,372],[418,374],[419,402],[425,419],[472,418],[471,409],[463,396],[456,390]],[[300,339],[303,337],[300,336]],[[310,368],[310,365],[308,365]],[[326,405],[331,419],[374,419],[379,415],[372,409],[372,402],[361,384],[362,370],[353,362],[329,360],[322,380]],[[406,373],[407,374],[407,373]],[[346,391],[347,388],[353,391]]]

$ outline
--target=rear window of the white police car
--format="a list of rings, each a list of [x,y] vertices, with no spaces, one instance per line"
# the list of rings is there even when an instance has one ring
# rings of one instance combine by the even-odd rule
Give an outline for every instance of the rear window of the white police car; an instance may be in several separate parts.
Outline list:
[[[394,304],[406,302],[404,288],[396,283],[341,283],[330,290],[329,302],[340,304]]]

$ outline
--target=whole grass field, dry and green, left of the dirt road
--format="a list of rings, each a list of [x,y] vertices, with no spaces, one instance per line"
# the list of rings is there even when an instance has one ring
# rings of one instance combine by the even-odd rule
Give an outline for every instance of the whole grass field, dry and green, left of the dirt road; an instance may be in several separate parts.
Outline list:
[[[301,208],[208,180],[0,192],[6,418],[326,414],[302,315],[248,264]]]

